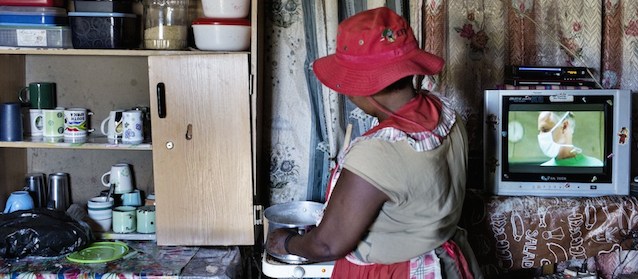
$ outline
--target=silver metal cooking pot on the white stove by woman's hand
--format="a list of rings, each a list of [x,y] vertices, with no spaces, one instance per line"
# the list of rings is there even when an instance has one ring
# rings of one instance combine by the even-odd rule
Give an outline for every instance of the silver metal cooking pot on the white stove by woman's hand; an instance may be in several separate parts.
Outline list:
[[[264,211],[264,231],[268,235],[276,229],[293,229],[303,235],[317,225],[323,204],[312,201],[294,201],[273,205]],[[278,255],[268,252],[276,259],[289,264],[303,264],[309,261],[296,255]]]

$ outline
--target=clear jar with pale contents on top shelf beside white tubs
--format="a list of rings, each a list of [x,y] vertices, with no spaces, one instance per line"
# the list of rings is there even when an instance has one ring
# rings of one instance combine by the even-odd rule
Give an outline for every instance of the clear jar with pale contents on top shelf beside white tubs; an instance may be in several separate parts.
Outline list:
[[[144,0],[144,48],[188,45],[188,0]]]

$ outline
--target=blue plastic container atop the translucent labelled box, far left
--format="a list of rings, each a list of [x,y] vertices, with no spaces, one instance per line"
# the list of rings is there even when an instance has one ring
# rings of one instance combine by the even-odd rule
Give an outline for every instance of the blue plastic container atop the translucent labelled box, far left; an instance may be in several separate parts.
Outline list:
[[[0,6],[0,25],[66,25],[66,9],[55,7]]]

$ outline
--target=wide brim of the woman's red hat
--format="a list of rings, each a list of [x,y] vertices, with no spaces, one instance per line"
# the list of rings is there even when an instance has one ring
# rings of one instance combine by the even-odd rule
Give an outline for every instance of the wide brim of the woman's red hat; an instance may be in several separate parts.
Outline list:
[[[444,63],[441,57],[415,48],[385,65],[345,63],[331,54],[315,60],[312,68],[321,83],[338,93],[370,96],[406,76],[437,74]]]

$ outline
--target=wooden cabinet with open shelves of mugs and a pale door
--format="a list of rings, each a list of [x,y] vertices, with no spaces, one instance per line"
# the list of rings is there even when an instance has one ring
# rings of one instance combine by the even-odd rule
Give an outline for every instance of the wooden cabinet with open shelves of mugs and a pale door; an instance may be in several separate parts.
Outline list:
[[[137,188],[155,193],[159,245],[253,245],[260,5],[253,1],[244,52],[0,49],[0,102],[53,81],[58,105],[93,111],[96,129],[84,144],[0,142],[0,206],[29,172],[68,172],[73,202],[85,204],[106,189],[100,178],[112,164],[128,162]],[[152,141],[106,143],[99,126],[108,112],[139,105],[150,107]]]

